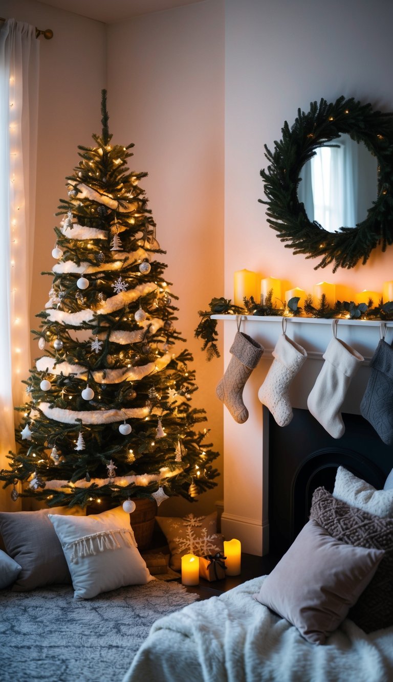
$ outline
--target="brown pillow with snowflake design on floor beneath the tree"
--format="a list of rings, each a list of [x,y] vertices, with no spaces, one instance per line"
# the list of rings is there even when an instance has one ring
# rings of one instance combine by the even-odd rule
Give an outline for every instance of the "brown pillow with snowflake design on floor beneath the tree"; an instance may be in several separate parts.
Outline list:
[[[169,544],[170,566],[174,571],[181,569],[184,554],[205,557],[224,551],[224,537],[217,533],[217,512],[208,516],[187,514],[184,518],[156,516],[156,520]]]

